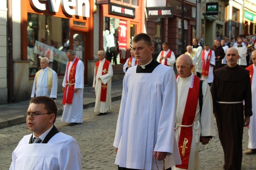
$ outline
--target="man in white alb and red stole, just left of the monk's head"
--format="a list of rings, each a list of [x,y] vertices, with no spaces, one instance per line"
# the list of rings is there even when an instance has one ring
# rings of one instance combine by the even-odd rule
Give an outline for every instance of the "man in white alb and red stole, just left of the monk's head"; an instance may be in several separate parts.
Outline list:
[[[215,53],[209,49],[209,45],[204,46],[202,52],[202,80],[211,86],[213,81],[213,66],[215,66]]]

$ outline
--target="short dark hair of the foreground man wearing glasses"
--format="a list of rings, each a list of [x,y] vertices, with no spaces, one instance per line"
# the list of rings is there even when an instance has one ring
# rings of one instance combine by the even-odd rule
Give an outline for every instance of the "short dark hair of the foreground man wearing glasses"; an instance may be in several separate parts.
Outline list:
[[[38,97],[32,98],[32,100],[30,100],[29,104],[32,104],[32,103],[33,104],[44,104],[44,109],[47,110],[47,113],[54,113],[55,119],[54,119],[53,123],[55,122],[56,117],[58,115],[58,107],[52,98],[49,98],[47,96],[38,96]]]

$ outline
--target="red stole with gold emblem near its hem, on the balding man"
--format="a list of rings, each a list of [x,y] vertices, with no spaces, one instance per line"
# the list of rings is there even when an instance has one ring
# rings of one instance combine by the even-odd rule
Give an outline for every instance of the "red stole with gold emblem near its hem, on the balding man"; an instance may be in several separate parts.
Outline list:
[[[196,107],[198,104],[200,90],[200,78],[194,75],[193,88],[189,88],[188,97],[182,118],[182,125],[192,125],[196,115]],[[176,165],[177,168],[188,169],[188,161],[190,148],[193,137],[193,126],[181,127],[180,138],[178,142],[181,165]],[[183,151],[183,152],[182,152]]]

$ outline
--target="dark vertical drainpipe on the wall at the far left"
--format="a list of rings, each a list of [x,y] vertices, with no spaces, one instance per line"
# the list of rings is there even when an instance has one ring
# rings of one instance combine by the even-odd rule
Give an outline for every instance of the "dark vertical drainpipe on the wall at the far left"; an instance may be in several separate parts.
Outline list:
[[[14,103],[14,74],[13,74],[13,53],[12,53],[12,0],[7,0],[7,37],[8,37],[8,76],[7,76],[7,87],[8,87],[8,103]]]

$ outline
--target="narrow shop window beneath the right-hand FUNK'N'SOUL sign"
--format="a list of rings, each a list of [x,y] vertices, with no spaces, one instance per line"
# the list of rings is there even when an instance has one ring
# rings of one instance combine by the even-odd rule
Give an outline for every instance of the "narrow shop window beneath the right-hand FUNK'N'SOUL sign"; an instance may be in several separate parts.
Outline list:
[[[163,30],[163,19],[155,19],[155,40],[154,40],[154,49],[155,53],[160,53],[162,51],[162,30]]]

